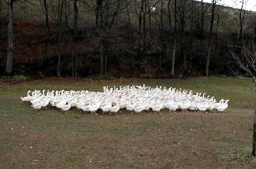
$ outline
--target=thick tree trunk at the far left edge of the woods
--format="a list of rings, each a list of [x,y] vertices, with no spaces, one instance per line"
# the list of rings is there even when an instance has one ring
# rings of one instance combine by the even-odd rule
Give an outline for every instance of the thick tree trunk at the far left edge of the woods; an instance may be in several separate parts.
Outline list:
[[[12,57],[13,57],[13,0],[8,1],[8,52],[6,61],[6,75],[12,75]]]

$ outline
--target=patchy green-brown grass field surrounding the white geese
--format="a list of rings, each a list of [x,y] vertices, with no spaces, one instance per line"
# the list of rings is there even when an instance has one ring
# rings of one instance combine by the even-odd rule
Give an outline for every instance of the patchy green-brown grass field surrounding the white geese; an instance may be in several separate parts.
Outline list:
[[[34,110],[20,100],[35,89],[143,84],[205,92],[230,104],[224,112],[90,115],[76,108]],[[256,168],[250,156],[254,101],[252,81],[230,77],[0,79],[0,168]]]

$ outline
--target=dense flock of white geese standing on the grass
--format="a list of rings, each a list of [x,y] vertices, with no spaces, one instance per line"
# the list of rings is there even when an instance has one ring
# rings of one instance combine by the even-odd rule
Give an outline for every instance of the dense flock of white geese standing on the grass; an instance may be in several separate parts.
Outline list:
[[[45,93],[46,92],[46,93]],[[214,97],[205,96],[205,93],[193,94],[176,88],[145,87],[132,85],[103,87],[103,92],[90,91],[28,91],[27,96],[20,97],[22,101],[31,103],[31,107],[42,109],[56,107],[67,112],[76,107],[92,115],[97,112],[116,113],[126,109],[136,113],[146,111],[160,112],[163,109],[171,111],[201,111],[218,110],[223,112],[228,108],[228,99],[216,101]]]

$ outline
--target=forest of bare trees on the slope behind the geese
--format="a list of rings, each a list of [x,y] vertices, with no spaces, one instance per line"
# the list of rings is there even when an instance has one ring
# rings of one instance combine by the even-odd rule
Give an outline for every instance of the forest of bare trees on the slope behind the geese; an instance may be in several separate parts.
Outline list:
[[[172,78],[243,75],[230,51],[253,51],[255,12],[192,0],[13,2],[12,75]],[[246,0],[242,3],[246,5]],[[0,76],[8,4],[0,0]]]

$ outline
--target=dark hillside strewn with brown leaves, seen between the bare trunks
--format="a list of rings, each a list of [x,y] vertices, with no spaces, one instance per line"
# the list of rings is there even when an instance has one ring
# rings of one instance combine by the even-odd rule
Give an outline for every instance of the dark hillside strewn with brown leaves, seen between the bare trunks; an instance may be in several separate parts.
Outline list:
[[[189,17],[191,15],[189,2],[184,4],[184,9],[188,10],[186,13],[178,11],[179,40],[177,41],[174,77],[204,75],[205,71],[211,4],[204,3],[204,27],[202,29],[200,2],[193,1],[193,20]],[[79,3],[79,36],[77,40],[73,39],[74,11],[72,11],[72,4],[69,4],[67,9],[70,10],[70,13],[65,18],[67,26],[61,30],[61,41],[58,40],[60,29],[54,22],[55,11],[49,11],[52,21],[50,23],[51,33],[45,34],[44,15],[42,15],[42,8],[38,5],[31,6],[24,3],[20,11],[20,6],[15,4],[15,52],[13,56],[13,72],[15,74],[56,75],[58,55],[61,55],[61,74],[65,76],[76,74],[87,77],[98,74],[102,69],[100,65],[104,64],[104,73],[116,77],[172,77],[170,71],[174,38],[173,15],[168,17],[167,1],[163,8],[163,29],[161,29],[159,10],[156,13],[144,11],[145,14],[141,17],[143,36],[140,33],[140,24],[138,27],[140,17],[138,18],[137,14],[140,10],[140,1],[129,4],[129,8],[122,8],[123,10],[120,10],[115,16],[113,26],[103,29],[95,26],[95,13],[92,13],[92,8]],[[51,5],[52,7],[56,6],[56,4],[49,4],[49,6]],[[147,5],[149,8],[153,4]],[[157,9],[160,8],[159,5],[159,3],[156,4]],[[181,7],[179,6],[179,9],[182,9]],[[234,27],[237,15],[235,9],[223,6],[216,8],[218,10],[216,10],[214,19],[211,44],[213,51],[210,64],[211,75],[230,73],[228,70],[230,49],[227,44],[230,41],[236,43],[239,29],[238,26]],[[6,16],[4,6],[2,6],[1,13],[3,13],[1,16]],[[108,17],[106,22],[110,23],[110,14]],[[255,22],[253,20],[255,18],[255,13],[251,13],[246,20],[243,30],[244,41],[250,41],[250,32],[253,29],[256,32],[255,26],[251,24]],[[168,22],[169,19],[171,22]],[[1,18],[1,76],[4,75],[6,64],[7,26],[6,17]],[[182,31],[183,29],[184,31]],[[163,35],[161,36],[161,34]],[[104,50],[101,50],[100,46],[102,37],[104,37]],[[102,54],[104,54],[103,60],[100,59]]]

